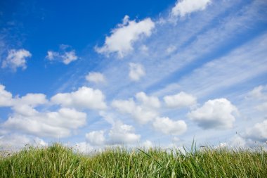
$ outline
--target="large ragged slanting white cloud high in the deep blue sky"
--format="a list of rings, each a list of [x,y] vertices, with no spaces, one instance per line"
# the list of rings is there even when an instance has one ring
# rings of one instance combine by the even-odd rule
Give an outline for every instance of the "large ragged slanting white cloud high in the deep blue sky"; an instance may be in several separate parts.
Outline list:
[[[129,16],[125,15],[123,23],[111,31],[110,37],[105,38],[105,44],[96,47],[96,51],[107,55],[117,53],[119,58],[123,58],[133,51],[134,42],[142,37],[150,37],[154,27],[155,23],[150,18],[136,22],[129,20]]]

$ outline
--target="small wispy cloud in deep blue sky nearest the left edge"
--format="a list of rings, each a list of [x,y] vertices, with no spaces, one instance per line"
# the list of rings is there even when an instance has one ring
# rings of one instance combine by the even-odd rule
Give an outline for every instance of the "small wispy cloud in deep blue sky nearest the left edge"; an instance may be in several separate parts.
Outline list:
[[[25,49],[12,49],[11,51],[8,51],[6,60],[2,62],[2,68],[11,68],[14,71],[16,71],[17,68],[22,68],[22,70],[25,70],[27,68],[26,58],[30,57],[32,57],[30,51]]]

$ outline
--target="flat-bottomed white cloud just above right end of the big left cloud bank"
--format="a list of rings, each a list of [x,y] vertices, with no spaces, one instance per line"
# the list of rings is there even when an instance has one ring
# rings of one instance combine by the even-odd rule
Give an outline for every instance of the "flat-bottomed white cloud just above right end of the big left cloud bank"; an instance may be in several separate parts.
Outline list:
[[[70,108],[105,109],[107,107],[104,94],[98,89],[89,87],[81,87],[71,93],[56,94],[51,101]]]

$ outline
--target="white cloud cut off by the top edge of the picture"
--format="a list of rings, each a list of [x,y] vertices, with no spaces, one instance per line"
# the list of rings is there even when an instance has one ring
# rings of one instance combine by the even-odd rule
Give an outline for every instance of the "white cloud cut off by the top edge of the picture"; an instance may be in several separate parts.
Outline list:
[[[171,15],[174,17],[183,17],[186,14],[193,13],[195,11],[203,11],[207,5],[211,3],[211,0],[181,0],[176,1],[176,5],[171,9]]]

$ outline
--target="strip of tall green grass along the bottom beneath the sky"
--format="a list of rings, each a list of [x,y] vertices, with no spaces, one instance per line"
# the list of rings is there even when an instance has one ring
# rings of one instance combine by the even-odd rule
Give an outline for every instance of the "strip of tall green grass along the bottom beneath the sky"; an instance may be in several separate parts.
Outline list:
[[[267,177],[267,153],[113,148],[86,156],[53,144],[1,156],[0,177]]]

